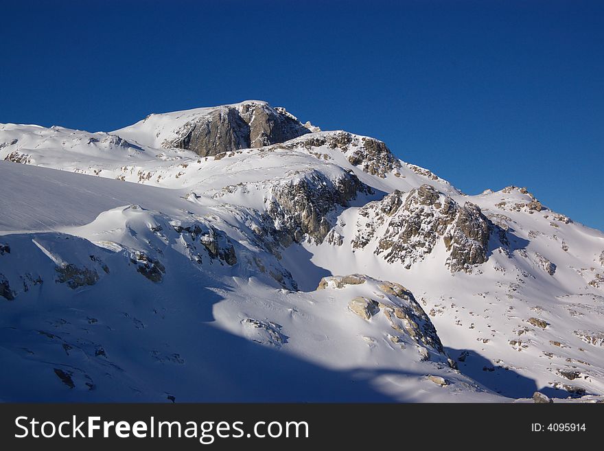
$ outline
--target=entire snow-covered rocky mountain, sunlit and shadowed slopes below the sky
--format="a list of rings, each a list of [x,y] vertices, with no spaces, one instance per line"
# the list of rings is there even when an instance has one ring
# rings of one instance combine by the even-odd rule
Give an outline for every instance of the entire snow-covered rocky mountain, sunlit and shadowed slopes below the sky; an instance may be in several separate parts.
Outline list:
[[[0,400],[604,395],[604,233],[525,188],[259,101],[0,159]]]

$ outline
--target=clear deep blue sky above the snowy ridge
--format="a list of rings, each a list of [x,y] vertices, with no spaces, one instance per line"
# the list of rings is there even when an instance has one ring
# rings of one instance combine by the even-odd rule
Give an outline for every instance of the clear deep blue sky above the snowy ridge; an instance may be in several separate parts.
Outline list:
[[[0,122],[267,100],[604,229],[603,1],[4,1]]]

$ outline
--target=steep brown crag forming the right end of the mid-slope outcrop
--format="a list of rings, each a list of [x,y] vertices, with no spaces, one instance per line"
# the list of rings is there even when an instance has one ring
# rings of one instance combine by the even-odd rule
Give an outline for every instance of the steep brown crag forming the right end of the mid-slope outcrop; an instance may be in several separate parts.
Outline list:
[[[493,224],[478,205],[465,203],[459,209],[451,231],[445,235],[445,246],[450,251],[446,265],[452,273],[472,271],[472,266],[487,261],[487,246]]]

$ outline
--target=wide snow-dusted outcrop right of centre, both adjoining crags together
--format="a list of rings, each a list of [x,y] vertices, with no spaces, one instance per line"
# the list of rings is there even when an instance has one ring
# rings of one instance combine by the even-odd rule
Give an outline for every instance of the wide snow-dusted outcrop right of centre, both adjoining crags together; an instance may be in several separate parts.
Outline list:
[[[493,231],[506,241],[505,231],[495,226],[472,203],[463,207],[431,185],[421,185],[408,194],[395,191],[359,211],[358,233],[353,248],[375,243],[374,253],[388,263],[399,262],[409,269],[432,253],[443,240],[450,255],[446,266],[452,273],[471,272],[487,261]]]

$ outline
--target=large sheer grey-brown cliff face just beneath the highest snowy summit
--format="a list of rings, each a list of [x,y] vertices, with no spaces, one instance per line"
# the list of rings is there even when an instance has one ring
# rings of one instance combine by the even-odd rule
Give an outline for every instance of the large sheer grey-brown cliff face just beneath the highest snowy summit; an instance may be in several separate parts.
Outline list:
[[[209,157],[283,143],[306,133],[310,130],[283,108],[271,108],[264,102],[244,102],[238,107],[220,106],[209,115],[187,122],[177,130],[176,139],[164,141],[162,146]]]

